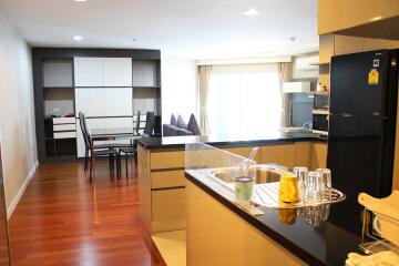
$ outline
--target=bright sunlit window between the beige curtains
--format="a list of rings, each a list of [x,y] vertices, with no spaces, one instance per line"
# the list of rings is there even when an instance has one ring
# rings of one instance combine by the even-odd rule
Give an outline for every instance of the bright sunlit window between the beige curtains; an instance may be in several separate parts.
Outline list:
[[[211,134],[255,137],[280,127],[282,96],[276,65],[214,66],[209,79]]]

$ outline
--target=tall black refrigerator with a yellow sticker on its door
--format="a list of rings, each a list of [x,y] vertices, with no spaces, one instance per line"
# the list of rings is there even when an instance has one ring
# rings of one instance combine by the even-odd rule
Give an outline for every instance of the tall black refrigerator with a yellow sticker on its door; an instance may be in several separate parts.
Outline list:
[[[354,203],[360,192],[375,197],[391,193],[398,52],[331,59],[327,167],[332,185],[350,193]]]

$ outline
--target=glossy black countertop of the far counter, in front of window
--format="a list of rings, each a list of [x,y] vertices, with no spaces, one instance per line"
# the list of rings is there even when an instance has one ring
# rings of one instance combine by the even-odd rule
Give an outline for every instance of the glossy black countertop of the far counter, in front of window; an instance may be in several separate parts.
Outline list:
[[[165,136],[165,137],[147,137],[137,140],[147,150],[184,150],[187,143],[203,142],[213,146],[255,146],[279,142],[295,141],[320,141],[327,142],[327,139],[314,134],[311,132],[275,132],[269,134],[254,134],[247,136]]]

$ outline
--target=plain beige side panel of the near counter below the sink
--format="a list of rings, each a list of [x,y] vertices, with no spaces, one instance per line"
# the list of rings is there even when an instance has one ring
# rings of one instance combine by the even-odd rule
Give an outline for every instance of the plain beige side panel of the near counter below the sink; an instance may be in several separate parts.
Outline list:
[[[186,218],[187,265],[307,265],[187,180]]]

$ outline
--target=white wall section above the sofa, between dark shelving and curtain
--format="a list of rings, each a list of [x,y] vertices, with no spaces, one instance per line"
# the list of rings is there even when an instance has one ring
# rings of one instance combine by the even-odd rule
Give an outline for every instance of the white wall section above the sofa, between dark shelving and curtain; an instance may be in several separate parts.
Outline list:
[[[198,120],[197,71],[195,60],[161,55],[162,120],[167,124],[172,113],[181,114],[186,123],[192,113]]]

